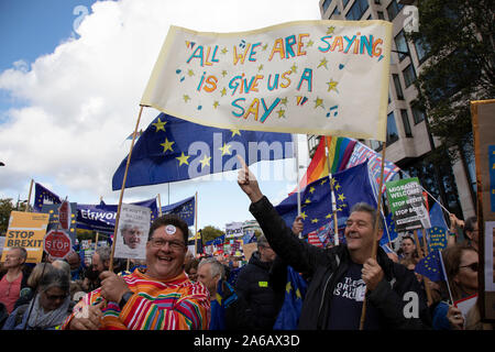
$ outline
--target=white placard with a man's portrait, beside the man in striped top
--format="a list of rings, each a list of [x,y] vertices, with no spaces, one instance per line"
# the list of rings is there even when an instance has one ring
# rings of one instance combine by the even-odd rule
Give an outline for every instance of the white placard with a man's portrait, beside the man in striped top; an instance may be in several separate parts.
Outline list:
[[[122,204],[114,257],[146,258],[150,208]]]

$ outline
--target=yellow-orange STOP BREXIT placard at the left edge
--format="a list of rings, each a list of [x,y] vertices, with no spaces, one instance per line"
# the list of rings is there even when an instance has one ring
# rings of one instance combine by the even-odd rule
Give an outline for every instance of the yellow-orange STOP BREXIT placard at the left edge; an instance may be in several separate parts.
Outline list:
[[[43,257],[43,238],[46,234],[50,215],[41,212],[12,211],[6,235],[1,262],[12,246],[22,246],[28,252],[26,263],[40,263]]]

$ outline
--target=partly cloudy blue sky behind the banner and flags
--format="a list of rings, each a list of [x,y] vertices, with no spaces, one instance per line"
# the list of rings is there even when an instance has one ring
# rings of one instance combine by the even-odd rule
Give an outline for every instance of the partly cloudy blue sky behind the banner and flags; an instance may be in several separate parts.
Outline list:
[[[74,202],[119,202],[112,175],[169,25],[239,32],[320,19],[319,0],[0,0],[0,198],[28,199],[33,179]],[[158,113],[144,109],[140,129]],[[301,177],[309,161],[298,140]],[[295,158],[251,169],[275,205],[296,185]],[[128,188],[123,202],[196,193],[198,229],[253,219],[237,172]]]

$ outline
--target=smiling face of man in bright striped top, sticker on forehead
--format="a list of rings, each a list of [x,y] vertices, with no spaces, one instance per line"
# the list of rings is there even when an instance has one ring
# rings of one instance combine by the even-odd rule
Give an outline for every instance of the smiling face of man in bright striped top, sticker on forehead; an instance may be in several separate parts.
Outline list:
[[[183,231],[167,224],[153,231],[146,243],[146,274],[157,279],[170,279],[184,271],[187,246]]]

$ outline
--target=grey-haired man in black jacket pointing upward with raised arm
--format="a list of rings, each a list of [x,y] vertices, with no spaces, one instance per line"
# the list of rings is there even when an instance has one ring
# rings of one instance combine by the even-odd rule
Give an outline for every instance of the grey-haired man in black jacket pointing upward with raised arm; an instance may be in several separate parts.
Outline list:
[[[356,330],[364,299],[364,329],[427,329],[430,317],[425,295],[411,271],[392,262],[378,246],[372,257],[375,209],[353,207],[345,227],[345,244],[319,249],[297,239],[261,193],[244,161],[238,183],[252,204],[275,253],[298,272],[311,275],[299,318],[304,330]]]

